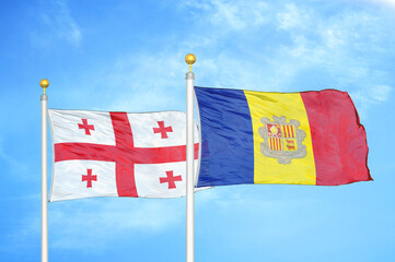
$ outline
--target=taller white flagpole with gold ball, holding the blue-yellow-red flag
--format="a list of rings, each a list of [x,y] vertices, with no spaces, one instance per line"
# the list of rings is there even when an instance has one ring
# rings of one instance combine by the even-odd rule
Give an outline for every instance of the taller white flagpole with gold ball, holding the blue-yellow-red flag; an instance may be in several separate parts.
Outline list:
[[[194,214],[194,80],[191,66],[196,61],[193,53],[185,57],[189,64],[186,73],[186,262],[195,261],[195,214]]]

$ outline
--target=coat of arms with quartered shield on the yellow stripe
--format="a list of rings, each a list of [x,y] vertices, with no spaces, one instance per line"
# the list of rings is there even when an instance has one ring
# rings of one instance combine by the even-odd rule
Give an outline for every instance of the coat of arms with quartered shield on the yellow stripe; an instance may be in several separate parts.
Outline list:
[[[279,164],[291,164],[292,158],[303,158],[306,156],[306,146],[302,144],[306,133],[299,129],[300,122],[291,119],[287,122],[286,117],[272,116],[262,118],[265,124],[258,129],[264,142],[260,143],[260,152],[267,156],[277,158]]]

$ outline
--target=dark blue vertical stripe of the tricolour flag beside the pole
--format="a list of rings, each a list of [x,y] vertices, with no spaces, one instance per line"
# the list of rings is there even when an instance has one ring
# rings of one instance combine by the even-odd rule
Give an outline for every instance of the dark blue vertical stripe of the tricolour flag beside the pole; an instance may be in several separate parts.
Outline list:
[[[201,128],[198,187],[254,183],[254,138],[241,90],[195,86]]]

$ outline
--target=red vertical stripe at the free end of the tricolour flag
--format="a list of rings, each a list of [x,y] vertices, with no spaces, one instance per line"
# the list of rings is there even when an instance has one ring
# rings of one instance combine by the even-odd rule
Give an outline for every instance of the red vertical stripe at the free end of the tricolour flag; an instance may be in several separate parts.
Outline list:
[[[372,180],[363,126],[346,92],[303,92],[313,142],[316,184]]]

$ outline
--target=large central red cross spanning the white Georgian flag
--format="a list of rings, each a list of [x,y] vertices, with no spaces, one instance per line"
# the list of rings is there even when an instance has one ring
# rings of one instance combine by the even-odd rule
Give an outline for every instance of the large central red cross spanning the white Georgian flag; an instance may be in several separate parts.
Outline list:
[[[133,135],[126,112],[109,112],[115,145],[92,143],[57,143],[54,145],[55,162],[103,160],[115,162],[116,184],[119,196],[137,198],[135,164],[161,164],[185,162],[186,146],[135,147]],[[199,144],[195,144],[195,159]]]

